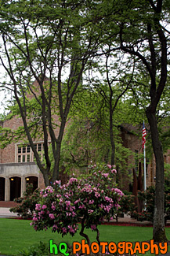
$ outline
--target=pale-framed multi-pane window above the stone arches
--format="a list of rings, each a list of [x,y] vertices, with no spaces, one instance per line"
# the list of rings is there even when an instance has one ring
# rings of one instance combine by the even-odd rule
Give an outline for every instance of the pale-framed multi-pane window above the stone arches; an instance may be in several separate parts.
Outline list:
[[[38,154],[41,157],[41,160],[43,158],[43,143],[35,143],[34,144],[35,149],[37,150]],[[34,154],[33,151],[31,150],[31,146],[30,145],[25,145],[25,146],[17,146],[17,156],[16,156],[16,161],[18,163],[24,163],[24,162],[31,162],[31,161],[35,161],[34,159]]]

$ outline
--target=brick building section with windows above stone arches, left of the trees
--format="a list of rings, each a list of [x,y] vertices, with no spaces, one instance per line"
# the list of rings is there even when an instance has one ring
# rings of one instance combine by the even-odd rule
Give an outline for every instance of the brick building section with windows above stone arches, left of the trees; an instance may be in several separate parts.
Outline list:
[[[16,128],[23,125],[21,118],[13,117],[1,123],[3,128]],[[23,146],[21,141],[10,143],[0,149],[0,201],[13,201],[23,195],[26,184],[34,188],[44,187],[42,173],[34,162],[34,155],[29,145]],[[43,154],[43,143],[34,143],[39,154]]]

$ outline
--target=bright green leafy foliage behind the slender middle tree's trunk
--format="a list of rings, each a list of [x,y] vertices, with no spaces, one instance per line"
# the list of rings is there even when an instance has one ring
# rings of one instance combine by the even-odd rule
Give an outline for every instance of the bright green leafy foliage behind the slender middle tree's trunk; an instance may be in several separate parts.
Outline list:
[[[85,171],[90,161],[108,163],[111,158],[109,109],[103,96],[85,88],[75,95],[61,147],[61,164]],[[104,86],[103,86],[104,90]],[[107,89],[106,89],[107,90]],[[123,102],[114,113],[115,164],[120,170],[131,169],[127,158],[132,151],[121,141],[119,125],[124,120]],[[67,165],[66,165],[67,166]]]

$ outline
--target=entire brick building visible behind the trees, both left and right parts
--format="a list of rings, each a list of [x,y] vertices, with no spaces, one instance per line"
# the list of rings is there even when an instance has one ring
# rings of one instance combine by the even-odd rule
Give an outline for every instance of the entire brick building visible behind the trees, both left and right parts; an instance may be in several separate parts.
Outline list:
[[[56,118],[57,121],[57,118]],[[0,124],[3,128],[16,129],[23,125],[21,118],[13,117],[11,120]],[[143,153],[141,139],[136,136],[136,129],[132,125],[123,125],[120,127],[123,146],[129,148],[136,154],[136,157],[128,158],[127,162],[133,162],[136,174],[139,169],[139,154]],[[56,131],[58,132],[58,131]],[[34,146],[38,154],[43,156],[43,142],[41,139],[34,141]],[[170,157],[166,156],[166,161],[170,162]],[[143,169],[143,163],[142,169]],[[132,173],[132,170],[129,170]],[[154,159],[146,166],[146,185],[154,185],[155,162]],[[125,190],[129,190],[128,177],[121,177]],[[14,198],[23,195],[26,190],[26,184],[33,184],[34,188],[44,187],[42,173],[34,162],[34,154],[29,145],[24,145],[22,141],[10,143],[4,149],[0,149],[0,201],[13,201]]]

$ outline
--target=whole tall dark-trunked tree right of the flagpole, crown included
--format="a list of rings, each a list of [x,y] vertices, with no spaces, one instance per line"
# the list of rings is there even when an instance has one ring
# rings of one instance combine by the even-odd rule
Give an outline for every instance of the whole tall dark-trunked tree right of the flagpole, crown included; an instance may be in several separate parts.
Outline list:
[[[150,77],[150,103],[146,108],[146,117],[150,124],[150,133],[156,159],[156,195],[154,211],[154,241],[166,240],[164,221],[164,158],[156,111],[161,95],[166,88],[168,63],[168,37],[165,28],[168,22],[168,2],[140,1],[128,6],[125,20],[120,22],[121,50],[139,59],[141,68]],[[131,10],[131,13],[129,11]],[[165,24],[164,24],[165,23]]]

